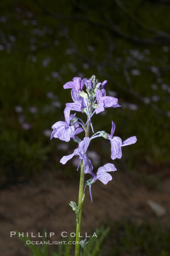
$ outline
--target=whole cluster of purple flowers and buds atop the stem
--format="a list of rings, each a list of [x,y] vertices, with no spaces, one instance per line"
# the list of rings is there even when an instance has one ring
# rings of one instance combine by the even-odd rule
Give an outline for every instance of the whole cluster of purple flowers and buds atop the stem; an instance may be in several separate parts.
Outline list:
[[[92,172],[93,166],[86,155],[91,140],[96,137],[103,137],[104,139],[110,140],[111,158],[113,160],[122,157],[122,146],[134,144],[137,141],[136,136],[130,137],[123,142],[121,138],[113,136],[116,127],[113,121],[110,134],[105,131],[94,133],[91,122],[91,117],[94,113],[99,114],[104,111],[105,108],[109,107],[121,107],[118,104],[117,98],[106,96],[106,85],[107,80],[104,80],[103,83],[99,83],[96,76],[92,76],[89,80],[86,78],[82,80],[80,77],[74,77],[73,81],[67,82],[63,87],[64,89],[72,89],[71,96],[73,102],[66,103],[66,108],[64,109],[65,121],[59,121],[52,126],[53,132],[51,134],[51,139],[54,137],[68,142],[71,138],[79,144],[73,154],[63,156],[60,162],[66,164],[66,162],[73,158],[74,155],[79,156],[80,161],[77,170],[81,164],[84,168],[84,173],[90,173],[92,175],[92,178],[86,182],[86,185],[89,186],[90,196],[91,184],[96,180],[100,180],[106,185],[108,181],[112,180],[112,176],[108,172],[116,170],[114,164],[108,163],[100,167],[96,174]],[[70,115],[71,110],[85,113],[87,115],[87,122],[84,123],[82,119],[76,117],[76,113]],[[90,126],[92,133],[94,133],[91,137],[89,137]],[[83,130],[85,131],[85,137],[81,140],[77,135]]]

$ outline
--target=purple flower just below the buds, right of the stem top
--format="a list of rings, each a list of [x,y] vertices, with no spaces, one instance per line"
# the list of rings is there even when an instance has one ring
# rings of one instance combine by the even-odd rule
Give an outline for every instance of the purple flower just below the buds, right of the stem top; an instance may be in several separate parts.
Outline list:
[[[96,114],[104,111],[104,108],[116,108],[116,107],[121,107],[117,102],[118,99],[111,97],[111,96],[106,96],[106,91],[105,89],[96,90],[96,99],[97,99],[97,108],[96,108]]]

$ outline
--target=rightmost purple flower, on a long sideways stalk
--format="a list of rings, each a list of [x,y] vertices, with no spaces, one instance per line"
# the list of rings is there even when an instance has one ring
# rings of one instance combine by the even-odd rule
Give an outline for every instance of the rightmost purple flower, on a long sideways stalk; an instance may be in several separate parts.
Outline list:
[[[113,137],[113,133],[115,131],[115,128],[116,128],[116,125],[112,121],[112,130],[111,130],[111,134],[108,136],[108,139],[110,140],[110,143],[111,143],[111,152],[112,152],[111,158],[113,160],[116,159],[116,158],[121,158],[122,157],[121,147],[134,144],[137,141],[136,136],[132,136],[132,137],[126,139],[123,142],[122,142],[121,138],[119,138],[117,136]]]

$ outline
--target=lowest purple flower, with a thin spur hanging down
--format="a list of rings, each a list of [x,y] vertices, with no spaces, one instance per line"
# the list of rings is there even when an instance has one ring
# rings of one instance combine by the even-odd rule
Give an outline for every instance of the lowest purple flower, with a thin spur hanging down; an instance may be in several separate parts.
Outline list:
[[[116,170],[117,169],[114,166],[114,164],[110,164],[110,163],[99,167],[99,169],[97,170],[97,174],[91,173],[93,175],[93,180],[91,181],[91,184],[94,183],[96,180],[100,180],[104,185],[106,185],[110,180],[112,180],[112,176],[107,172],[113,172]],[[89,192],[90,192],[90,198],[92,201],[91,184],[89,185]]]

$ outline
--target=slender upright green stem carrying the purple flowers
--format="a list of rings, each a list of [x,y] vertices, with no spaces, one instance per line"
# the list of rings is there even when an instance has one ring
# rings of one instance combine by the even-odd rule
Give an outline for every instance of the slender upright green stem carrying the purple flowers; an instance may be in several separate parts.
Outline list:
[[[88,121],[86,126],[85,137],[88,137],[90,133],[90,121]],[[82,207],[83,207],[83,191],[84,191],[84,173],[85,166],[83,161],[81,161],[81,173],[80,173],[80,185],[79,185],[79,202],[78,207],[80,208],[79,212],[79,222],[76,225],[76,247],[75,247],[75,256],[80,256],[80,232],[81,232],[81,222],[82,222]]]

